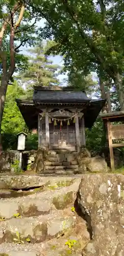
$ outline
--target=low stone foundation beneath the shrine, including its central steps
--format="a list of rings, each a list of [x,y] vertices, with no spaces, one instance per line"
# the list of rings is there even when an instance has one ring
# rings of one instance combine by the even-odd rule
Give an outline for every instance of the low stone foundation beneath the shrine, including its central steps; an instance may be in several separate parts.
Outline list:
[[[1,173],[18,173],[19,152],[3,152],[1,157]],[[85,147],[79,153],[71,150],[48,150],[40,147],[37,151],[22,152],[22,170],[37,174],[84,174],[106,173],[108,167],[101,156],[91,157]]]

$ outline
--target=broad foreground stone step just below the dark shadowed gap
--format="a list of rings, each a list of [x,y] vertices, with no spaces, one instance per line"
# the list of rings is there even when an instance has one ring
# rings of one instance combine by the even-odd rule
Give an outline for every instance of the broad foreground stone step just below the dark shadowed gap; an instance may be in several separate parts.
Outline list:
[[[48,182],[47,191],[26,197],[0,200],[0,217],[5,219],[20,216],[40,216],[49,214],[52,209],[65,208],[75,201],[81,179]],[[57,205],[56,202],[57,201]]]

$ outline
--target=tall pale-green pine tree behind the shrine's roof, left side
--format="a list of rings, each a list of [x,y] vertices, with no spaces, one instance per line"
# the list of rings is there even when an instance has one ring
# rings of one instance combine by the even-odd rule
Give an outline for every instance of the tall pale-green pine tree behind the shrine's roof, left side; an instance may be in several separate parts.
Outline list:
[[[32,97],[34,86],[58,86],[58,65],[45,55],[45,46],[39,43],[29,50],[28,70],[21,74],[21,80],[26,84],[28,98]]]

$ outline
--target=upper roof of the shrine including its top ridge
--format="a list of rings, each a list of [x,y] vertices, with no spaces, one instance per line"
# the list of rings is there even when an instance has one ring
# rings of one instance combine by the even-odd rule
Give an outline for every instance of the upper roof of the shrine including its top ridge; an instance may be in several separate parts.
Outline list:
[[[33,101],[37,103],[82,103],[90,99],[85,92],[67,87],[35,87]]]

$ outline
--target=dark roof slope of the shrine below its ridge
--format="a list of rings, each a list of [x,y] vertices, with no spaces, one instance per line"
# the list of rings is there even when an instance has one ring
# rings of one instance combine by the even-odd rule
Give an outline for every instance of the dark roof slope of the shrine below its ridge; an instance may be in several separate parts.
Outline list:
[[[33,95],[35,102],[70,102],[70,103],[82,103],[90,101],[84,92],[74,91],[43,91],[35,90]]]

